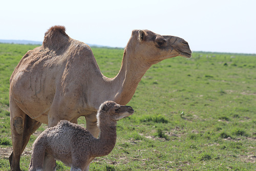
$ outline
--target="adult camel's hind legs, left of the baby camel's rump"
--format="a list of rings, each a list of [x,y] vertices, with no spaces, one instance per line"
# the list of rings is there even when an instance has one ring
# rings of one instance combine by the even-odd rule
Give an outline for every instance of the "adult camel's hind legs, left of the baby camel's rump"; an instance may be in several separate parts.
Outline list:
[[[12,154],[9,157],[11,171],[20,170],[19,160],[24,151],[31,134],[33,134],[41,125],[31,119],[18,105],[10,100],[10,125],[12,132]]]

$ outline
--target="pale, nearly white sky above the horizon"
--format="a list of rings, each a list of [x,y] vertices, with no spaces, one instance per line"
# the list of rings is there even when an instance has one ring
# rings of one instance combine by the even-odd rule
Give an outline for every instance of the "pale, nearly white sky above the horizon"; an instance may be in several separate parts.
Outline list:
[[[132,30],[188,41],[193,51],[256,54],[255,0],[8,0],[0,39],[42,41],[54,25],[88,44],[124,48]]]

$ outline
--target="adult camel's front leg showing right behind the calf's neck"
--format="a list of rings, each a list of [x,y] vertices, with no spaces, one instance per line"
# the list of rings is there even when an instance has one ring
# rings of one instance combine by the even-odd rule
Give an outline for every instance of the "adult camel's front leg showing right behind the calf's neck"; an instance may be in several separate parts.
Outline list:
[[[90,115],[86,116],[86,129],[95,137],[99,136],[99,128],[97,126],[97,112],[93,112]]]

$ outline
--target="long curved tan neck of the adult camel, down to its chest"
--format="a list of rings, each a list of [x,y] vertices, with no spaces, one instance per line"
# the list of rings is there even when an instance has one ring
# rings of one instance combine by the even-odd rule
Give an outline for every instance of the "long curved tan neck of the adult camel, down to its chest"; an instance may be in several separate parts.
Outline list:
[[[142,76],[152,66],[143,61],[143,58],[136,54],[133,46],[129,46],[130,44],[129,41],[123,53],[121,69],[114,78],[105,77],[95,60],[95,70],[85,80],[82,93],[86,95],[84,98],[86,105],[93,111],[98,110],[100,104],[106,100],[126,105],[132,99]]]

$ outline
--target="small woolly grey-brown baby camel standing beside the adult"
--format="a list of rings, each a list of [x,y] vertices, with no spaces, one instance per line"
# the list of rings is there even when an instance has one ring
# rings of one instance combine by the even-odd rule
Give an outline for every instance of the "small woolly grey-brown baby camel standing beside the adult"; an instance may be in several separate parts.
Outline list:
[[[116,144],[116,121],[134,113],[131,106],[105,101],[97,113],[99,138],[83,127],[66,120],[42,132],[33,144],[29,171],[44,170],[47,161],[56,159],[71,170],[89,170],[90,162],[108,155]]]

